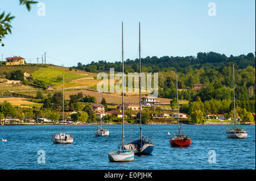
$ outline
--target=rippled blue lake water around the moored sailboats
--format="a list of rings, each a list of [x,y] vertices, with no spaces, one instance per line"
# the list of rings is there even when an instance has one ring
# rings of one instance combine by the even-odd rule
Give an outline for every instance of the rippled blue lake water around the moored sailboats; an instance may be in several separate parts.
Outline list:
[[[170,147],[177,125],[142,125],[144,135],[154,140],[154,151],[126,163],[108,159],[121,142],[122,125],[104,125],[108,137],[94,136],[96,127],[65,125],[65,133],[72,133],[74,141],[61,145],[51,141],[61,125],[1,126],[0,139],[7,142],[0,141],[0,169],[255,169],[255,125],[246,125],[246,139],[227,138],[225,125],[182,125],[183,133],[192,138],[189,148]],[[138,135],[138,125],[125,125],[126,142]],[[44,150],[46,163],[38,163],[39,150]],[[216,163],[208,162],[209,150],[215,151]]]

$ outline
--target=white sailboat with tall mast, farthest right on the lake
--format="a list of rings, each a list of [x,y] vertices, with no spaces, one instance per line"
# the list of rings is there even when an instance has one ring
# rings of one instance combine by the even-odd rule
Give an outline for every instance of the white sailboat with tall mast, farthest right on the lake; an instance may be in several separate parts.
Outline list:
[[[226,128],[226,136],[228,138],[246,138],[246,128],[236,123],[236,106],[235,106],[235,94],[234,94],[234,64],[233,64],[233,96],[234,96],[234,122]]]

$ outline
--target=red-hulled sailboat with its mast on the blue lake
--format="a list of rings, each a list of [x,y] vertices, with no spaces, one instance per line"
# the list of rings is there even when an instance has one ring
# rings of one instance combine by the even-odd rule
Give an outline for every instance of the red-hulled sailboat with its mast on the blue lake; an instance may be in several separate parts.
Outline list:
[[[179,95],[177,91],[177,73],[176,73],[176,92],[177,92],[177,120],[178,120],[178,130],[179,133],[177,135],[174,135],[170,139],[170,145],[172,147],[181,147],[181,146],[189,146],[191,144],[191,138],[189,138],[187,135],[180,134],[181,131],[181,125],[179,120]]]

